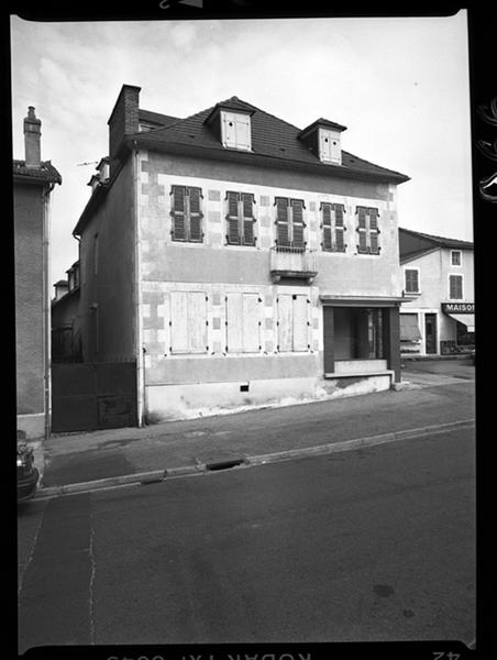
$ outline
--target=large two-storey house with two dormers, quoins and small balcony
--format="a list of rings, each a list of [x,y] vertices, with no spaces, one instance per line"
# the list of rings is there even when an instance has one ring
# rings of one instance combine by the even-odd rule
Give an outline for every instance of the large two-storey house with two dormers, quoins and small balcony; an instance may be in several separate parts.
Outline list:
[[[232,97],[177,119],[123,86],[80,238],[85,361],[137,361],[139,419],[400,381],[397,185]]]

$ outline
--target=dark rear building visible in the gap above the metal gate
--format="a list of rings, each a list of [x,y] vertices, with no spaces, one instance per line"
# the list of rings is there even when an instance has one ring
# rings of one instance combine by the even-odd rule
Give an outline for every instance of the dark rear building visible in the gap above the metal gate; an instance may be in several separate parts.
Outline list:
[[[67,279],[54,284],[52,299],[52,362],[81,362],[82,346],[79,323],[79,262],[67,273]]]

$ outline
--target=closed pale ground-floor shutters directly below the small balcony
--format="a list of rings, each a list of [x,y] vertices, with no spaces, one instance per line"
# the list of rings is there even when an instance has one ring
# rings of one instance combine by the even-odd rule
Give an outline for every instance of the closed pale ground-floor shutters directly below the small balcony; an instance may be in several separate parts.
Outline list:
[[[309,344],[308,298],[301,294],[279,294],[278,309],[278,351],[307,351]]]

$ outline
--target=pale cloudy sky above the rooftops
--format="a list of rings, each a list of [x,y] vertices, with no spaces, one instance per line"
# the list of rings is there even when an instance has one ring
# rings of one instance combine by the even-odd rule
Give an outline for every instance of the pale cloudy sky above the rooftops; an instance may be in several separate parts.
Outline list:
[[[49,47],[47,47],[49,44]],[[399,226],[473,240],[467,12],[448,18],[34,22],[11,16],[13,157],[42,120],[51,282],[77,260],[71,232],[123,84],[140,107],[188,117],[232,96],[305,128],[347,127],[342,148],[408,175]]]

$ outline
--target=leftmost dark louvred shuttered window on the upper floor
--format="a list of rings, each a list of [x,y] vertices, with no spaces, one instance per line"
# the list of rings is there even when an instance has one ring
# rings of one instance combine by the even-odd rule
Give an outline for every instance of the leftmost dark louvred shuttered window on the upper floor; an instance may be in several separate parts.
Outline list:
[[[173,241],[202,243],[201,188],[172,186],[170,198]]]

